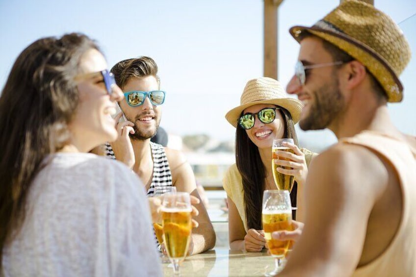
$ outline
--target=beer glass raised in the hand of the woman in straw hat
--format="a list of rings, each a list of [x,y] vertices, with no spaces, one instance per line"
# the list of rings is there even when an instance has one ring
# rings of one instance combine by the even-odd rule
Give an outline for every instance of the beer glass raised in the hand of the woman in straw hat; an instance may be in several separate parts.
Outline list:
[[[278,159],[287,160],[286,158],[279,157],[277,155],[276,151],[285,151],[285,152],[290,152],[290,153],[293,153],[293,154],[295,153],[290,148],[288,148],[286,146],[283,146],[283,142],[288,142],[288,143],[293,144],[293,139],[283,138],[283,139],[274,139],[273,140],[273,147],[272,147],[273,178],[274,178],[274,182],[276,183],[278,189],[288,190],[290,192],[292,190],[293,183],[295,182],[294,176],[282,174],[282,173],[278,172],[276,169],[278,167],[284,168],[284,169],[291,169],[291,168],[290,167],[285,167],[285,166],[279,166],[279,165],[274,163],[274,161],[278,160]]]

